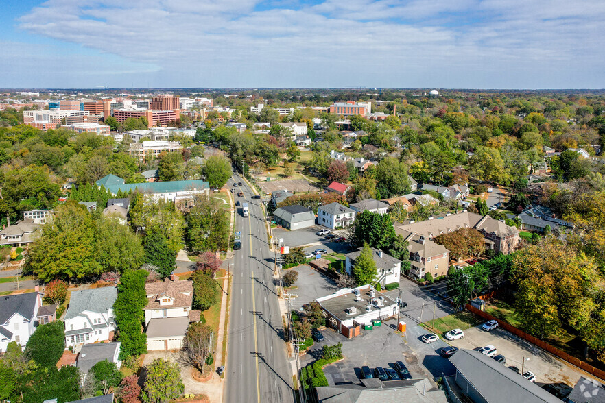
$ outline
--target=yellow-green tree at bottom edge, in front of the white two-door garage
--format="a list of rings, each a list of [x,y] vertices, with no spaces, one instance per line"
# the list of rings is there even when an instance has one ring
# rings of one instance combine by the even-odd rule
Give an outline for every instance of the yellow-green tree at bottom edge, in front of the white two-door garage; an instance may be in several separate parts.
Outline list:
[[[171,399],[180,398],[183,391],[185,385],[176,363],[156,358],[145,367],[145,383],[141,391],[144,403],[167,403]]]

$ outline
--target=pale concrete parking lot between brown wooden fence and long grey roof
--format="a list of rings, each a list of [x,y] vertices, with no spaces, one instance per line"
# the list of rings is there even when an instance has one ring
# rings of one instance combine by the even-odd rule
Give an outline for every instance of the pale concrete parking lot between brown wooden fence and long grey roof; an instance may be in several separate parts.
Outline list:
[[[486,332],[476,326],[464,330],[462,339],[451,342],[455,347],[468,350],[478,350],[490,344],[497,348],[498,354],[506,357],[507,367],[514,366],[521,369],[521,363],[525,358],[525,371],[532,371],[536,375],[536,383],[540,386],[562,382],[573,387],[580,376],[588,376],[576,367],[501,328]]]

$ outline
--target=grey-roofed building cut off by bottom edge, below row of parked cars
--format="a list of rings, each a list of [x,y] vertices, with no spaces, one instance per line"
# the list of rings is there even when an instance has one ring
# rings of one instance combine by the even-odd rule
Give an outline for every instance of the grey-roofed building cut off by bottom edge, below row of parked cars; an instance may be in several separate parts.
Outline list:
[[[406,380],[359,380],[361,384],[317,387],[318,403],[414,402],[447,403],[445,392],[433,387],[427,378]]]

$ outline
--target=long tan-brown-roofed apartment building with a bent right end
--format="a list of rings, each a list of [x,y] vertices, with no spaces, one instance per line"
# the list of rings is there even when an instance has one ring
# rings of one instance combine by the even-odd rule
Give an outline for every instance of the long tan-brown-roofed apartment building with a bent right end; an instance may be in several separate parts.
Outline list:
[[[446,234],[460,228],[475,228],[485,237],[486,248],[495,249],[496,252],[509,254],[519,244],[519,230],[506,225],[503,220],[493,219],[488,215],[479,215],[474,212],[459,212],[449,214],[438,219],[429,219],[417,223],[395,224],[395,231],[407,238],[410,234],[418,234],[425,239],[433,240],[435,236]]]

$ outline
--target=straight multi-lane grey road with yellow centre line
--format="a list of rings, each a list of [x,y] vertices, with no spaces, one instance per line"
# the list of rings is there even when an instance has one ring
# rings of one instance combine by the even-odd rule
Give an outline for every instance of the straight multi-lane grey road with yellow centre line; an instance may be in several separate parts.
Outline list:
[[[233,180],[244,182],[239,175]],[[228,326],[225,402],[294,402],[292,370],[283,340],[283,323],[274,283],[274,254],[269,250],[260,199],[245,185],[240,202],[248,203],[250,217],[237,208],[235,230],[241,231],[241,249],[234,251],[231,308]]]

